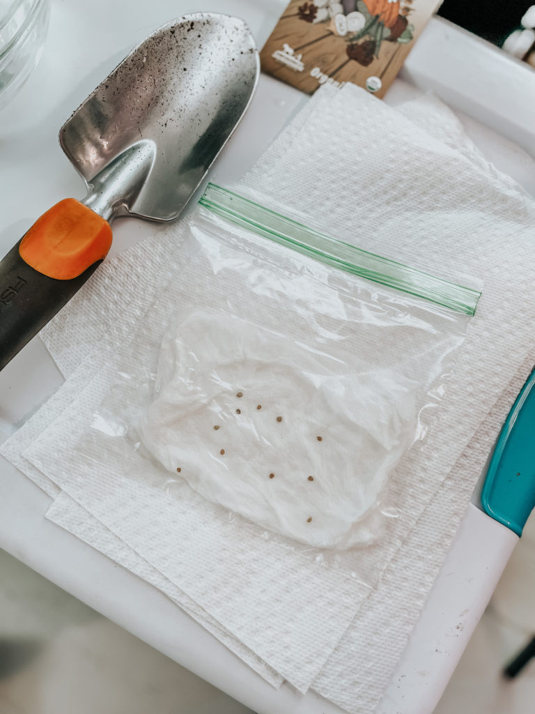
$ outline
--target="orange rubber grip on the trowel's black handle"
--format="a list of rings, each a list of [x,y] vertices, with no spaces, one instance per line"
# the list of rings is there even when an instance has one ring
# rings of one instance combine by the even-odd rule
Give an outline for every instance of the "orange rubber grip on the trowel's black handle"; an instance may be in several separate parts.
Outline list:
[[[72,280],[106,257],[111,238],[108,221],[76,198],[63,198],[31,226],[19,253],[39,273]]]

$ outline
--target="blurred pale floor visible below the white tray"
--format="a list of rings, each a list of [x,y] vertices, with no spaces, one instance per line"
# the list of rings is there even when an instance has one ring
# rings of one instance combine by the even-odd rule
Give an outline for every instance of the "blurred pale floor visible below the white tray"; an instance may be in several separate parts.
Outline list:
[[[535,518],[435,714],[531,714]],[[248,714],[249,710],[0,551],[0,714]],[[291,714],[291,713],[289,713]]]

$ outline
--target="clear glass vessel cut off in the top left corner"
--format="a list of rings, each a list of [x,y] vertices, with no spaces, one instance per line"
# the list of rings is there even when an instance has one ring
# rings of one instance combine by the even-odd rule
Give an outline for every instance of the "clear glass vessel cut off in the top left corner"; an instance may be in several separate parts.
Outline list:
[[[0,0],[0,109],[39,62],[49,18],[50,0]]]

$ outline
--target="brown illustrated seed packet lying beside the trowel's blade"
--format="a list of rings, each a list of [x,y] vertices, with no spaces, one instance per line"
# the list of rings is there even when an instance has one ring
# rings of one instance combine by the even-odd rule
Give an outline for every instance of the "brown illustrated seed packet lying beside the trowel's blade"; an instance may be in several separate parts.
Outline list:
[[[263,71],[312,94],[352,82],[379,97],[439,0],[292,0],[260,53]]]

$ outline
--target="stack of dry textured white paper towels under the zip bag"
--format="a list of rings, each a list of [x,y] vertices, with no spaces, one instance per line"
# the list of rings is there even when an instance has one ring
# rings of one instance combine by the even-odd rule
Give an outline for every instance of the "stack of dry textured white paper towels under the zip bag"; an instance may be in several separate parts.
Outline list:
[[[507,399],[495,405],[529,371],[535,203],[437,100],[394,110],[352,85],[318,91],[239,190],[281,213],[297,208],[315,228],[374,253],[483,283],[425,458],[392,479],[402,518],[363,556],[377,565],[366,564],[374,578],[248,540],[240,519],[202,498],[181,508],[150,480],[125,478],[117,453],[99,465],[75,448],[113,384],[117,346],[142,340],[158,286],[180,266],[183,222],[101,266],[47,326],[42,337],[66,383],[1,453],[54,498],[48,518],[162,590],[274,687],[287,680],[371,713]]]

